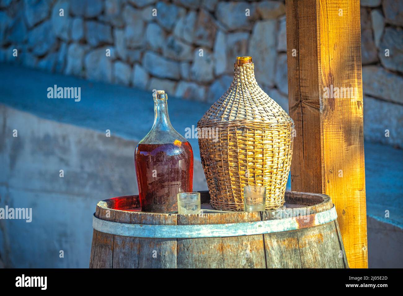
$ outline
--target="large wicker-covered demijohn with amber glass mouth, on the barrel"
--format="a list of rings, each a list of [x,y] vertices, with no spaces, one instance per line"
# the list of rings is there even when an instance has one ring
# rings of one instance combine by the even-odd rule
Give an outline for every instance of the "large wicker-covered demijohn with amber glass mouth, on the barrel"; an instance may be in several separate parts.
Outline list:
[[[259,87],[251,57],[237,58],[231,87],[197,127],[214,209],[243,211],[245,185],[266,186],[267,210],[284,205],[294,122]]]

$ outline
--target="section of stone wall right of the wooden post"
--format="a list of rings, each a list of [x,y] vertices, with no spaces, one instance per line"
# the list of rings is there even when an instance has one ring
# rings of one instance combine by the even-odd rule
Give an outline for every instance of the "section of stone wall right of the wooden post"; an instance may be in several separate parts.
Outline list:
[[[402,27],[402,0],[361,0],[364,136],[399,147],[403,147]]]

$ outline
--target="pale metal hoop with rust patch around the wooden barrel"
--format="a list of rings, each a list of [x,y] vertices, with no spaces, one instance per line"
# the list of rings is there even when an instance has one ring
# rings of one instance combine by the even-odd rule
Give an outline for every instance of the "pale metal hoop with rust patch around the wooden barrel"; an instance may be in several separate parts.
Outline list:
[[[141,238],[214,238],[244,236],[297,230],[326,224],[337,219],[336,209],[298,217],[255,222],[198,225],[143,225],[99,219],[93,215],[95,230],[121,236]]]

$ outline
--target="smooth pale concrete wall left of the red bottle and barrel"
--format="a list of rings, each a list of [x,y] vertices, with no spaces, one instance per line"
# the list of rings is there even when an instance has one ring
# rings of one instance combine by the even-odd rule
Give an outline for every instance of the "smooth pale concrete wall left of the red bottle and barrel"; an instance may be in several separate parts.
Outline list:
[[[97,201],[137,191],[132,166],[137,143],[2,105],[0,122],[0,207],[33,209],[31,223],[0,220],[4,264],[86,267],[89,250],[84,246],[91,243],[88,226]]]

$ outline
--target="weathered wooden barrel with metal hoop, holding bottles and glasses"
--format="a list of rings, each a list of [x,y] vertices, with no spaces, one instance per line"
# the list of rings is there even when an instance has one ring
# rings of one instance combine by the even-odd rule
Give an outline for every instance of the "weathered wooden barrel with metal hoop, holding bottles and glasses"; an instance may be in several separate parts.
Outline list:
[[[100,201],[90,268],[348,268],[337,214],[327,195],[286,192],[284,208],[145,213],[138,195]]]

